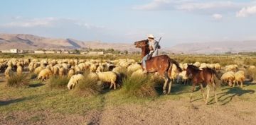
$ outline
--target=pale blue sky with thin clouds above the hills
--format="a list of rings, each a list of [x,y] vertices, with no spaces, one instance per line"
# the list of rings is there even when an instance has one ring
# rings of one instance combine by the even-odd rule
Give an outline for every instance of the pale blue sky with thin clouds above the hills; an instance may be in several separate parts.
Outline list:
[[[0,33],[133,43],[256,40],[256,0],[2,0]]]

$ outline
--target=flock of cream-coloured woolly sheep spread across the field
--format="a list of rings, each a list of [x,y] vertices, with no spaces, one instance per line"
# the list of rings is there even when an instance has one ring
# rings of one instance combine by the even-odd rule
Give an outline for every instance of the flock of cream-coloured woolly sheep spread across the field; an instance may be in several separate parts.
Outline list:
[[[228,65],[221,67],[220,64],[206,64],[196,62],[193,65],[199,69],[211,68],[220,73],[222,72],[221,81],[230,86],[241,85],[245,81],[245,71],[238,70],[238,65]],[[176,80],[176,83],[189,83],[189,78],[186,76],[186,68],[188,64],[179,64],[182,72],[178,73],[176,67],[172,69],[171,78]],[[223,69],[222,69],[223,68]],[[24,71],[36,74],[41,81],[51,76],[68,76],[68,89],[73,89],[78,81],[85,76],[82,75],[85,71],[90,71],[91,78],[97,79],[103,83],[109,83],[110,89],[114,90],[122,84],[122,70],[126,69],[131,73],[131,77],[143,76],[142,66],[134,59],[117,59],[117,60],[100,60],[100,59],[0,59],[0,72],[4,72],[6,79],[15,75],[21,75]],[[255,69],[255,66],[249,66],[249,69]],[[157,74],[155,74],[157,76]]]

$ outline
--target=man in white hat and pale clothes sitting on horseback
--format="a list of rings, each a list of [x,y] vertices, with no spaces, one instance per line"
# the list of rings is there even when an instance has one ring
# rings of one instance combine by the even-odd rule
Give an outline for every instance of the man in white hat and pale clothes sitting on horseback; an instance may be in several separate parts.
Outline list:
[[[160,49],[159,42],[154,40],[154,35],[148,35],[149,40],[149,54],[146,54],[146,56],[142,59],[142,66],[144,69],[144,73],[147,73],[146,71],[146,60],[150,59],[151,57],[158,56],[158,49]]]

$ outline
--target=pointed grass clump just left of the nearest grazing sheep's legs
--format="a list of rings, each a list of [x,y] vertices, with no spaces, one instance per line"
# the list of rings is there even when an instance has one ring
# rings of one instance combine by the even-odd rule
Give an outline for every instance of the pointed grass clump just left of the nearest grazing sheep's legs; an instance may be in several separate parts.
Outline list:
[[[102,85],[97,83],[97,79],[88,77],[88,72],[85,72],[84,78],[75,85],[73,93],[80,96],[92,96],[102,93]]]

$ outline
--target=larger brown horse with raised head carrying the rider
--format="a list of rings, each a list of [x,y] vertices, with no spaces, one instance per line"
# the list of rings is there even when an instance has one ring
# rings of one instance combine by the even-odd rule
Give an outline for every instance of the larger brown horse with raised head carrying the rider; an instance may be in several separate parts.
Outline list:
[[[142,40],[138,42],[134,42],[134,45],[137,48],[142,49],[142,58],[149,54],[149,41]],[[172,65],[175,64],[178,72],[181,72],[181,68],[178,66],[178,63],[174,59],[170,59],[167,55],[154,56],[151,59],[146,60],[146,70],[149,73],[158,72],[160,76],[164,77],[164,87],[163,92],[166,94],[166,86],[169,85],[168,94],[171,93],[171,84],[174,79],[171,79],[171,69]]]

